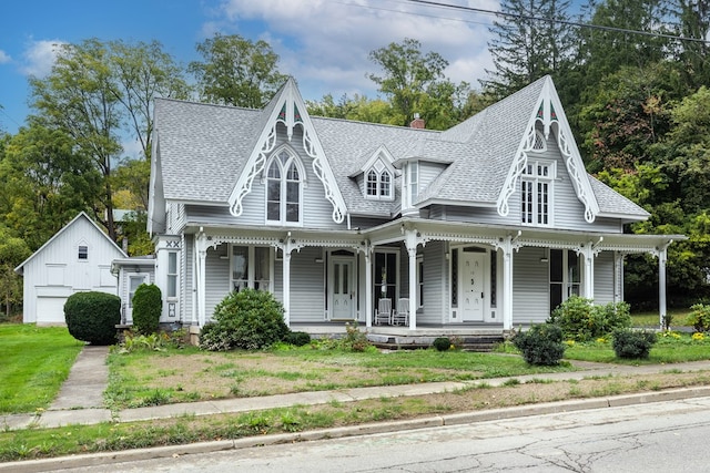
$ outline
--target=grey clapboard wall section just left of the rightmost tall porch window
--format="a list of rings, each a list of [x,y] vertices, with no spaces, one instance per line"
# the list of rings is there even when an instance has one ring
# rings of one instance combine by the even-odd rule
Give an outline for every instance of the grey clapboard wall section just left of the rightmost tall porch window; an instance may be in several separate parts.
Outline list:
[[[549,268],[540,248],[520,248],[513,256],[513,322],[541,323],[550,315]]]

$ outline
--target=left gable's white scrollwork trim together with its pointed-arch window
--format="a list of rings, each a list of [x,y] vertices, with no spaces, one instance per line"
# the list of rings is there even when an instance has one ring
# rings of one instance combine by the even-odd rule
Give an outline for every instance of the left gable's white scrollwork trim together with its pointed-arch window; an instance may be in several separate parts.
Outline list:
[[[306,173],[298,153],[304,153],[312,160],[324,198],[333,207],[333,222],[342,223],[347,214],[345,202],[293,78],[274,95],[261,117],[261,133],[229,197],[230,213],[235,217],[242,215],[243,199],[258,177],[266,184],[265,223],[302,225]],[[300,142],[294,136],[300,136]]]

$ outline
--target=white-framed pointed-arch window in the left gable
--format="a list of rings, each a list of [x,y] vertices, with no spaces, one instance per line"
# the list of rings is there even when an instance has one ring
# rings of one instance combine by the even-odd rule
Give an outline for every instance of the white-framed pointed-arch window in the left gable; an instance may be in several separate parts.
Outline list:
[[[266,167],[266,222],[300,224],[303,214],[304,171],[298,157],[282,150]]]

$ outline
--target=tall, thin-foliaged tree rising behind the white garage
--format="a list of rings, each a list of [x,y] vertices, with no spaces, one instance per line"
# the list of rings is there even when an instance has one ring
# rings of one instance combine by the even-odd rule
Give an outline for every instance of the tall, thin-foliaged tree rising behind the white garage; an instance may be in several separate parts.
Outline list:
[[[78,152],[92,158],[102,177],[102,193],[92,205],[94,218],[115,240],[112,178],[123,152],[121,142],[126,134],[135,137],[150,160],[153,100],[187,96],[181,68],[158,42],[90,39],[62,45],[51,72],[30,79],[30,86],[32,105],[44,126],[68,133]],[[148,166],[131,171],[143,173],[136,181],[148,183]],[[132,191],[146,202],[148,184]]]

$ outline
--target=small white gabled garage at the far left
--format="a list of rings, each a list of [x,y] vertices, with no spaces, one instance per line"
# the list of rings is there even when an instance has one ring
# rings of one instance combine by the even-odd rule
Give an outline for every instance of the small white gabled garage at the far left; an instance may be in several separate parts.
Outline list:
[[[24,278],[24,323],[64,323],[64,302],[74,292],[116,294],[111,261],[123,251],[85,213],[80,213],[14,271]]]

